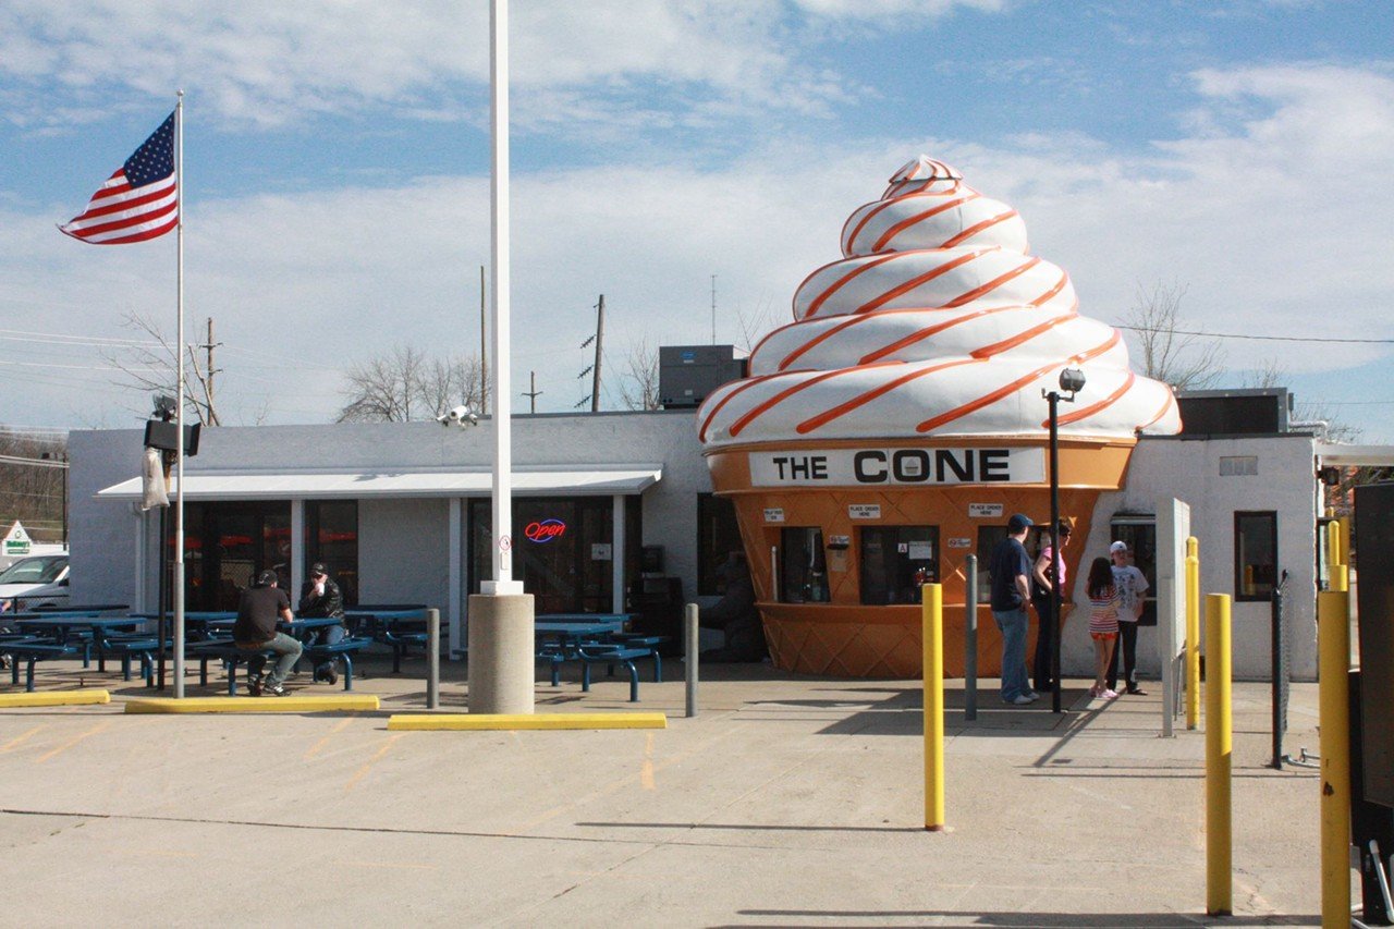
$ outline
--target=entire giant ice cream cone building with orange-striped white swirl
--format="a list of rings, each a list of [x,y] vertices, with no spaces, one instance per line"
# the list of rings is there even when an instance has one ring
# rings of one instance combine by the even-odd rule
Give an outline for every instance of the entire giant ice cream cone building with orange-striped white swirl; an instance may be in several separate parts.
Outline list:
[[[701,405],[700,438],[778,667],[917,675],[917,586],[940,580],[945,671],[960,674],[966,557],[1011,513],[1050,515],[1041,389],[1068,367],[1087,379],[1058,418],[1061,512],[1080,540],[1136,435],[1179,431],[1177,402],[1132,372],[1115,329],[1078,314],[1016,211],[942,162],[896,172],[848,219],[842,252],[799,286],[750,377]],[[1066,550],[1072,568],[1080,554]],[[987,617],[979,667],[995,674]]]

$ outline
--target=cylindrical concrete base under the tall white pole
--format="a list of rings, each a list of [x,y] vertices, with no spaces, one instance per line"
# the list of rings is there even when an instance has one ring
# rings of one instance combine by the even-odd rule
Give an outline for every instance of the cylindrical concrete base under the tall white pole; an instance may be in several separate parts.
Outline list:
[[[533,711],[533,594],[471,594],[470,713]]]

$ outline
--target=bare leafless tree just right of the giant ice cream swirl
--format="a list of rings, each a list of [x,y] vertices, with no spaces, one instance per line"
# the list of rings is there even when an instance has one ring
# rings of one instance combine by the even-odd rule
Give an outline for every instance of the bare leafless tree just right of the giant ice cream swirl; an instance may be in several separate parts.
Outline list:
[[[1158,282],[1150,290],[1139,283],[1136,303],[1124,315],[1122,328],[1135,333],[1143,374],[1178,391],[1199,391],[1224,374],[1224,353],[1218,342],[1202,343],[1199,335],[1185,331],[1181,317],[1185,296],[1186,287],[1175,282]]]

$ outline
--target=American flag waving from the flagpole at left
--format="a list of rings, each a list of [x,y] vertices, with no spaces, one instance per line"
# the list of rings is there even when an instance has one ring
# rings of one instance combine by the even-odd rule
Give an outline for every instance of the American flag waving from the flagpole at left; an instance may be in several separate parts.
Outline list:
[[[92,194],[82,215],[59,229],[93,246],[163,236],[178,223],[174,114]]]

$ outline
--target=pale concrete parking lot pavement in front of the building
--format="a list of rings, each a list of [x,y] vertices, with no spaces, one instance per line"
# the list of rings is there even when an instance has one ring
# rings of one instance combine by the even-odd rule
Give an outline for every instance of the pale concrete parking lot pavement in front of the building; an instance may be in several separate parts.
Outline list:
[[[969,724],[949,682],[949,830],[927,833],[914,681],[711,668],[684,718],[675,664],[640,704],[619,679],[538,685],[539,710],[662,710],[662,731],[389,732],[422,681],[367,671],[382,713],[121,714],[141,686],[0,711],[0,925],[1207,922],[1203,735],[1158,737],[1160,688],[1066,682],[1061,716],[984,689]],[[1289,727],[1316,749],[1315,685]],[[1315,925],[1316,771],[1266,767],[1267,685],[1235,685],[1234,731],[1223,923]]]

